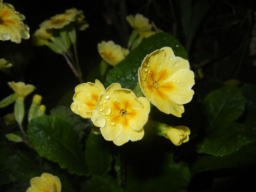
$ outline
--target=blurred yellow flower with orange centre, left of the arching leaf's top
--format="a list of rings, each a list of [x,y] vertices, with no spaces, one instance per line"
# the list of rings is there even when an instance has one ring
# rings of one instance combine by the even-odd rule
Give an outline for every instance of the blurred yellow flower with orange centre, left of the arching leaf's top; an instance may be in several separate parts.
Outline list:
[[[113,41],[102,41],[101,43],[98,43],[98,51],[102,59],[110,65],[118,64],[129,53],[128,49],[114,44]]]

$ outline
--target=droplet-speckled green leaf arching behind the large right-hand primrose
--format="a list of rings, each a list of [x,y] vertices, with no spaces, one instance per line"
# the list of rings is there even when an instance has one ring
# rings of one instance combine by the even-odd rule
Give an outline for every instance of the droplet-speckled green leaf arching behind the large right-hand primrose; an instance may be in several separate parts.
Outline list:
[[[138,84],[138,69],[144,57],[165,46],[171,47],[175,56],[188,59],[184,47],[175,37],[168,33],[158,33],[144,39],[123,61],[109,70],[105,86],[107,87],[117,82],[120,83],[123,88],[133,90]]]

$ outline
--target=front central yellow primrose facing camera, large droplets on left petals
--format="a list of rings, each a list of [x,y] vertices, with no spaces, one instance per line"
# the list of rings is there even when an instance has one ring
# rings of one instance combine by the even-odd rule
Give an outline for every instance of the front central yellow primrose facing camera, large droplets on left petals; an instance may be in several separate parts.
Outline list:
[[[143,138],[149,112],[150,103],[145,97],[137,98],[131,90],[113,83],[99,97],[91,120],[106,140],[120,146]]]

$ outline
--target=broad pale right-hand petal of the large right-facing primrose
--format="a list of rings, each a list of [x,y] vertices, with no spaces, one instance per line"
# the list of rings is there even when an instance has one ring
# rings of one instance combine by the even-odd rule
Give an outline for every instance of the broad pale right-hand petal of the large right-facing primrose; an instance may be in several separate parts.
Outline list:
[[[180,69],[165,81],[165,84],[172,84],[172,89],[165,89],[165,84],[162,84],[163,87],[160,88],[173,102],[185,104],[193,97],[194,91],[191,87],[195,84],[194,77],[193,71]]]

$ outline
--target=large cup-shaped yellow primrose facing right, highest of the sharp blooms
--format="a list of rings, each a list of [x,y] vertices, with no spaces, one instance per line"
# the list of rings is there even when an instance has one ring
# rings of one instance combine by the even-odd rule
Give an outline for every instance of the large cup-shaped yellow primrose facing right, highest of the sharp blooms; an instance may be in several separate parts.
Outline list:
[[[175,57],[172,48],[164,47],[144,58],[139,68],[139,84],[159,110],[181,117],[182,104],[191,101],[194,94],[194,73],[187,60]]]

